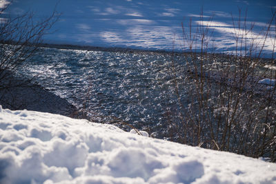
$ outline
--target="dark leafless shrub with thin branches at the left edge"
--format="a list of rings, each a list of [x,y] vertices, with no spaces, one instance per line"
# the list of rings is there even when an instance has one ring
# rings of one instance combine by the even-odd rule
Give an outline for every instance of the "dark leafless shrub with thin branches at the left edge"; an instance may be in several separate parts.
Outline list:
[[[49,33],[52,25],[59,19],[59,14],[54,10],[45,19],[34,19],[33,12],[26,12],[17,16],[8,14],[9,5],[0,10],[0,100],[6,101],[5,96],[10,94],[11,99],[18,99],[14,96],[16,88],[31,88],[34,85],[34,78],[26,79],[19,72],[24,68],[24,62],[34,56],[43,41],[43,36]],[[12,94],[14,93],[14,94]],[[20,108],[26,104],[13,103],[8,101],[10,107]],[[2,104],[3,105],[3,104]]]

